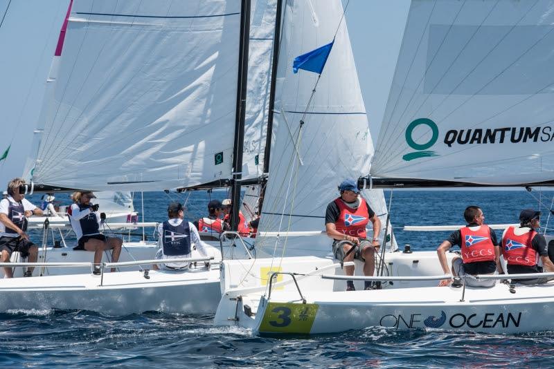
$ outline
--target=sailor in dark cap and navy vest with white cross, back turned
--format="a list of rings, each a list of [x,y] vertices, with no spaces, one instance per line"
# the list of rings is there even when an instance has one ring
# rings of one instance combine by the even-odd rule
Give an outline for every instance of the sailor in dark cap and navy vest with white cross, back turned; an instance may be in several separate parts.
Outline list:
[[[213,247],[200,240],[195,225],[184,221],[184,207],[179,202],[172,202],[168,206],[168,220],[158,225],[158,252],[157,259],[190,258],[193,248],[200,255],[213,256]],[[186,269],[188,262],[159,263],[154,269]]]

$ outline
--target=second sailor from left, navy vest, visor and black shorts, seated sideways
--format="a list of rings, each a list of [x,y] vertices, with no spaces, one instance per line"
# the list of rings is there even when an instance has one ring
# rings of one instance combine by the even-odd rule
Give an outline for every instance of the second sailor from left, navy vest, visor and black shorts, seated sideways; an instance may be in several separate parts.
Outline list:
[[[116,263],[121,253],[123,240],[100,234],[101,219],[98,214],[98,204],[91,205],[91,199],[96,198],[94,193],[91,191],[75,192],[72,198],[75,202],[71,205],[68,216],[78,239],[78,245],[73,249],[94,252],[93,274],[98,275],[100,274],[102,252],[111,249],[111,262]],[[111,272],[115,271],[115,268],[111,268]]]

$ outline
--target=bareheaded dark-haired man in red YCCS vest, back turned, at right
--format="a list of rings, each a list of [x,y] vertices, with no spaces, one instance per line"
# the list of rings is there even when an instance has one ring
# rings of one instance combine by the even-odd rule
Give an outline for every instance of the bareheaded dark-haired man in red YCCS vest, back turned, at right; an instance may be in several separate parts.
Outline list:
[[[497,269],[502,272],[497,235],[488,225],[485,225],[485,216],[481,208],[474,205],[469,206],[465,208],[463,217],[467,225],[454,231],[437,248],[438,260],[445,274],[450,274],[446,252],[452,245],[458,245],[462,249],[462,257],[452,259],[454,276],[494,274]],[[442,280],[439,286],[447,286],[451,282]],[[471,287],[492,287],[494,283],[496,283],[494,279],[479,281],[476,278],[465,278],[465,285]]]

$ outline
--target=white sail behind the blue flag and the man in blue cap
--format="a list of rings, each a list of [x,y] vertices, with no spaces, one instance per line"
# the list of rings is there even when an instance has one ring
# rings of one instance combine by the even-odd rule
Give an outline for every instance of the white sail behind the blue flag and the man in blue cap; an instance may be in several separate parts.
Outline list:
[[[339,1],[287,2],[278,66],[274,144],[260,222],[262,236],[267,231],[323,231],[325,209],[339,196],[339,183],[344,178],[369,173],[373,143],[342,15]],[[317,75],[303,70],[293,74],[292,61],[328,44],[335,32],[334,46],[307,106]],[[305,124],[298,138],[304,111]],[[377,192],[382,198],[382,191]],[[375,210],[386,217],[386,207]],[[327,236],[280,237],[278,243],[275,238],[262,237],[256,247],[269,254],[274,254],[276,247],[286,249],[287,256],[323,255],[330,252],[330,244]]]

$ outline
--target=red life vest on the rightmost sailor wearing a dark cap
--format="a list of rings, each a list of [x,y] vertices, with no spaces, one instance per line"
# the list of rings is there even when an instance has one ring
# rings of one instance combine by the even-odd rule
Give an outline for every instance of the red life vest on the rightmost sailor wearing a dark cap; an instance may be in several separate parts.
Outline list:
[[[517,236],[514,227],[508,227],[502,238],[502,255],[508,265],[537,265],[538,255],[533,249],[533,237],[537,234],[534,229]]]

